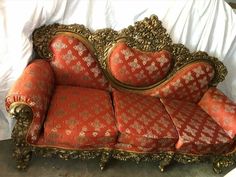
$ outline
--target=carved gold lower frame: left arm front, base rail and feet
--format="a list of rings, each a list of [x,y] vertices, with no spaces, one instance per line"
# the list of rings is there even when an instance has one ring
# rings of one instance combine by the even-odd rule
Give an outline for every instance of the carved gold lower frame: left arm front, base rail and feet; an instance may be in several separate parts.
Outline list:
[[[180,163],[196,163],[200,161],[213,160],[213,170],[221,173],[224,168],[236,164],[236,150],[221,156],[214,155],[188,155],[174,152],[165,153],[135,153],[123,150],[66,150],[60,148],[38,147],[29,145],[26,142],[26,134],[32,121],[31,108],[23,103],[13,103],[9,113],[17,120],[15,128],[12,132],[12,138],[15,142],[13,157],[16,159],[18,169],[26,169],[31,160],[32,153],[43,157],[60,157],[62,159],[94,159],[100,157],[100,168],[103,170],[109,159],[115,158],[122,161],[134,160],[136,163],[142,161],[159,162],[159,169],[164,171],[165,167],[170,165],[172,161]]]

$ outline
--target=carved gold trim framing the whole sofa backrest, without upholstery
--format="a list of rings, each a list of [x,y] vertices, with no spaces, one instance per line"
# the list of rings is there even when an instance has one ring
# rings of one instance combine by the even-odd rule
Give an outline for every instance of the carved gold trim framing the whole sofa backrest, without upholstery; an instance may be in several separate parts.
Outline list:
[[[48,46],[52,38],[58,33],[69,33],[77,37],[81,36],[82,39],[88,41],[88,46],[92,51],[94,51],[94,56],[100,62],[103,72],[111,82],[111,85],[122,90],[138,92],[139,90],[143,91],[152,89],[170,79],[184,66],[195,61],[206,61],[214,67],[215,75],[209,84],[210,86],[216,86],[219,82],[222,82],[227,74],[226,67],[217,58],[211,57],[206,52],[202,51],[190,53],[189,49],[184,45],[173,44],[169,34],[166,32],[166,29],[162,26],[162,22],[155,15],[137,21],[134,25],[130,25],[120,31],[105,28],[92,33],[89,29],[79,24],[52,24],[42,26],[36,29],[33,33],[34,49],[40,57],[52,57],[52,53],[49,51]],[[111,48],[120,40],[125,40],[129,47],[143,52],[154,52],[162,49],[171,52],[173,57],[173,66],[167,76],[163,80],[148,87],[132,87],[122,84],[111,77],[111,74],[108,71],[107,58]]]

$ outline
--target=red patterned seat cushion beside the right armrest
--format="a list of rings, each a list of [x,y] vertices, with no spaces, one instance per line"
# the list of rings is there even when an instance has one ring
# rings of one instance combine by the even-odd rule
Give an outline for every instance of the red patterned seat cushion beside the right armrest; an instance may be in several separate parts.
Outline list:
[[[232,140],[197,104],[161,99],[178,131],[176,149],[190,154],[219,154],[232,148]]]

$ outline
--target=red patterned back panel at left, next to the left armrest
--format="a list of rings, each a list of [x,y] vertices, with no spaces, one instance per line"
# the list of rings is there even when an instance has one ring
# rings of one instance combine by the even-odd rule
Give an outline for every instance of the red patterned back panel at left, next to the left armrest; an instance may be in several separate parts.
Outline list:
[[[60,34],[52,40],[50,48],[57,84],[107,89],[108,81],[88,41]]]

